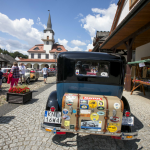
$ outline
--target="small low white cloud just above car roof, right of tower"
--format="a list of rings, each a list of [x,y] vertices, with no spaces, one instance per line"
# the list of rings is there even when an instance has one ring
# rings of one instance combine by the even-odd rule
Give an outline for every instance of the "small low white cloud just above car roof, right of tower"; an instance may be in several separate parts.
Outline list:
[[[65,49],[68,51],[82,51],[82,49],[79,48],[78,46],[73,47],[73,48],[68,46],[68,41],[66,39],[60,40],[58,38],[58,43],[62,44],[65,47]]]

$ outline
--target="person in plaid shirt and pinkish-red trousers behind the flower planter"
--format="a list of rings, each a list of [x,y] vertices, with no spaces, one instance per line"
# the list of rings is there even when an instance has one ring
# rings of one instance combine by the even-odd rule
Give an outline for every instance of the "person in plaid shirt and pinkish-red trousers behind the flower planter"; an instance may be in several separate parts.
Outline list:
[[[11,83],[10,83],[10,88],[13,88],[14,84],[15,86],[18,85],[18,81],[19,81],[19,67],[18,67],[18,63],[14,62],[13,66],[11,68],[11,73],[13,74],[12,79],[11,79]]]

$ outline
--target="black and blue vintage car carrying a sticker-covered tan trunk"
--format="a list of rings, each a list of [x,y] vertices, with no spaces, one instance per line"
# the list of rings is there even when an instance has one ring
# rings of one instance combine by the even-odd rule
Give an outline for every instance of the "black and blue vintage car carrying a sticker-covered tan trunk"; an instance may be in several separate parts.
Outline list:
[[[86,71],[83,64],[91,69]],[[92,73],[95,70],[96,73]],[[62,52],[57,58],[57,90],[50,93],[43,130],[136,139],[127,99],[122,96],[126,60],[96,52]]]

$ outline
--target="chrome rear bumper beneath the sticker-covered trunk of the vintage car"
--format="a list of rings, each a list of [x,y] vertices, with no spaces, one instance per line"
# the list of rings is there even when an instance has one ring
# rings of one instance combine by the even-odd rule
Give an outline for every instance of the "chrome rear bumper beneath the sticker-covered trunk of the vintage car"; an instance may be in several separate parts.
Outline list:
[[[130,132],[130,133],[104,133],[104,132],[99,132],[99,131],[84,131],[84,130],[73,130],[73,129],[61,129],[61,127],[56,127],[56,126],[49,126],[45,125],[44,123],[41,124],[41,129],[46,131],[46,129],[51,129],[52,133],[56,134],[56,131],[62,131],[62,132],[73,132],[73,133],[83,133],[83,134],[96,134],[96,135],[104,135],[104,136],[117,136],[121,137],[121,140],[133,140],[137,139],[138,137],[138,132]],[[47,132],[47,131],[46,131]],[[132,136],[132,138],[127,138],[127,136]]]

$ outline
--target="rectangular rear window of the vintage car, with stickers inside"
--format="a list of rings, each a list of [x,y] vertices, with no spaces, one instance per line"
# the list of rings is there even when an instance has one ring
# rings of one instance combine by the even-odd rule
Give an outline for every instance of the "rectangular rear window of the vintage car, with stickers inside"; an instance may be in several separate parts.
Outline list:
[[[104,61],[76,61],[75,74],[77,76],[109,77],[109,62]]]

